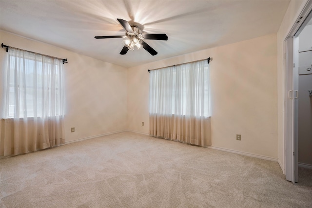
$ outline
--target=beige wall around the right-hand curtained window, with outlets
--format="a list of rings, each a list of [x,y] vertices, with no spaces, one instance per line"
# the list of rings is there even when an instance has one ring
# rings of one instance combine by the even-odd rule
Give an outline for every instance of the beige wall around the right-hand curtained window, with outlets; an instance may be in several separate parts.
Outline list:
[[[128,129],[148,133],[148,69],[212,57],[212,146],[277,159],[276,40],[272,34],[129,68]]]

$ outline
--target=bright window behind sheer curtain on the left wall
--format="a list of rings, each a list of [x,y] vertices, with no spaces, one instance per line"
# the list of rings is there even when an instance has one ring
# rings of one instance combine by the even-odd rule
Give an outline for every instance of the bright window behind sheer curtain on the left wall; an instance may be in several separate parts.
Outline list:
[[[9,51],[5,118],[63,115],[62,61]]]

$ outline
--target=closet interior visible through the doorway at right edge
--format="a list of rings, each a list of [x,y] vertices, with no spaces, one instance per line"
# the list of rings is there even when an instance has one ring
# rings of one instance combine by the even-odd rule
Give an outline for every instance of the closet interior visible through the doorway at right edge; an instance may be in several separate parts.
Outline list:
[[[312,173],[312,12],[305,20],[295,37],[298,38],[298,74],[294,76],[298,87],[298,98],[295,102],[297,117],[297,150],[298,177],[295,182],[307,180],[309,170]],[[310,93],[311,92],[311,93]],[[296,139],[296,138],[295,138]],[[295,167],[296,168],[296,167]]]

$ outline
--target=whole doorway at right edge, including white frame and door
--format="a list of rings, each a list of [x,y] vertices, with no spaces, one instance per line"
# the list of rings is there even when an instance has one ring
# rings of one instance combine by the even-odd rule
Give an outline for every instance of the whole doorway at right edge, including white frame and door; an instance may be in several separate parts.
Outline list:
[[[312,184],[312,2],[285,40],[285,174]],[[310,89],[311,88],[311,89]],[[310,179],[311,180],[311,179]]]

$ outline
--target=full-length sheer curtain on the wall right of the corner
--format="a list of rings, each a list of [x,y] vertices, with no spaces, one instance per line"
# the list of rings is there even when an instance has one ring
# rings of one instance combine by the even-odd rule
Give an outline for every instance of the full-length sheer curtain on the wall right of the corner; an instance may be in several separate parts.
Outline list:
[[[211,145],[207,60],[150,72],[151,136]]]

